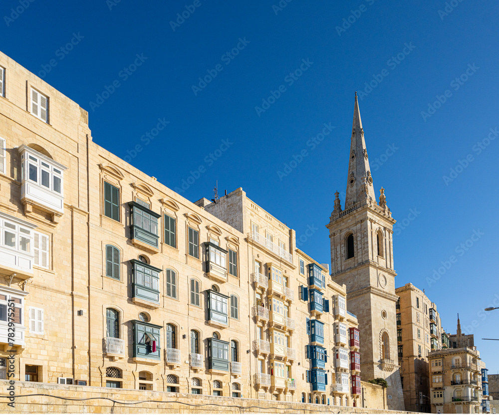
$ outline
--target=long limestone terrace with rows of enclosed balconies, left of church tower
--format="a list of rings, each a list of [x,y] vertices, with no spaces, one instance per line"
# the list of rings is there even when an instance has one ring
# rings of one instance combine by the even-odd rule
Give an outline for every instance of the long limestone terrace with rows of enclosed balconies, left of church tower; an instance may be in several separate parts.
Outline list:
[[[346,288],[292,229],[242,189],[184,199],[1,53],[0,80],[0,377],[15,349],[16,381],[362,405]]]

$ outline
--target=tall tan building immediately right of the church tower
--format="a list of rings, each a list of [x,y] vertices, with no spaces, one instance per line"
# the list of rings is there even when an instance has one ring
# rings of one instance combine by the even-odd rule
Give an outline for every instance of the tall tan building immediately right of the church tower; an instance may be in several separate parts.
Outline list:
[[[397,354],[407,411],[431,412],[428,355],[449,348],[437,306],[424,291],[408,283],[395,290]]]

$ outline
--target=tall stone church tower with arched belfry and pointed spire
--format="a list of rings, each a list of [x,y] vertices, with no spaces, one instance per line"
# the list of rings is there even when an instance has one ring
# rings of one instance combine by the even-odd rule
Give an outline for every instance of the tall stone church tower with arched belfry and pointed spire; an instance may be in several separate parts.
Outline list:
[[[335,193],[326,225],[331,240],[331,277],[346,284],[347,309],[359,320],[361,374],[364,381],[388,383],[388,409],[404,410],[397,348],[393,224],[384,189],[379,203],[373,187],[355,93],[345,208]]]

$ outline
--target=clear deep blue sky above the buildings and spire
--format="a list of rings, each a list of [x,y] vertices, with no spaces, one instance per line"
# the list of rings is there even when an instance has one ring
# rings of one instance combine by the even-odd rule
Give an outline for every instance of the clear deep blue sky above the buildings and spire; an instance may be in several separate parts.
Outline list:
[[[354,91],[363,91],[376,194],[386,189],[398,220],[397,286],[425,288],[447,331],[458,312],[467,333],[475,320],[497,373],[499,342],[481,338],[499,338],[499,310],[480,310],[499,305],[499,5],[451,3],[34,0],[23,9],[4,0],[1,50],[88,110],[96,143],[171,189],[203,166],[184,186],[189,200],[211,198],[218,180],[221,193],[243,187],[298,237],[317,228],[301,248],[321,262],[334,192],[346,187]],[[209,71],[216,77],[200,83]],[[278,98],[267,106],[271,91]],[[433,106],[437,96],[445,102]],[[169,124],[141,141],[158,119]],[[335,128],[312,149],[324,123]],[[228,149],[215,152],[222,140]]]

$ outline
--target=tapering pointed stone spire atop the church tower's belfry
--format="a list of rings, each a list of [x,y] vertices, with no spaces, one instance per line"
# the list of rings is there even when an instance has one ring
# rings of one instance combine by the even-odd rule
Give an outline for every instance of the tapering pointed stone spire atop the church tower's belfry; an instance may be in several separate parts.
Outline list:
[[[359,102],[357,100],[357,92],[355,92],[345,209],[357,203],[364,205],[367,200],[376,202],[370,170],[366,143],[364,141],[364,129],[362,128],[362,120],[360,119]]]

